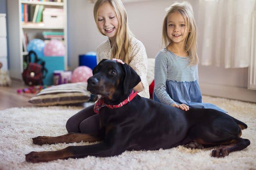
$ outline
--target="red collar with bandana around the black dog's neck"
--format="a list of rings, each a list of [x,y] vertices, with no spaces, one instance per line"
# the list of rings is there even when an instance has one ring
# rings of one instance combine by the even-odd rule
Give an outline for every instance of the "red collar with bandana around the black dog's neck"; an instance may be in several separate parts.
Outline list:
[[[130,101],[132,101],[132,99],[137,95],[138,92],[134,92],[132,91],[131,94],[129,95],[129,97],[127,99],[125,99],[124,101],[122,101],[121,103],[119,103],[118,105],[107,105],[104,103],[103,99],[99,99],[95,105],[94,105],[94,112],[97,114],[100,114],[100,109],[103,107],[108,107],[110,109],[115,109],[115,108],[120,108],[123,105],[126,105],[127,103],[129,103]]]

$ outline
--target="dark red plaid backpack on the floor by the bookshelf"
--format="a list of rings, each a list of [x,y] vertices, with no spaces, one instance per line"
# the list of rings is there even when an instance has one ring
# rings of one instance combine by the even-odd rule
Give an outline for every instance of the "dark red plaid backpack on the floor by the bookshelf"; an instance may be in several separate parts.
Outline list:
[[[31,54],[34,54],[35,62],[31,62]],[[45,68],[45,61],[39,59],[34,51],[29,51],[28,55],[25,56],[25,62],[27,68],[22,72],[22,79],[26,85],[35,86],[43,85],[44,72],[47,74]]]

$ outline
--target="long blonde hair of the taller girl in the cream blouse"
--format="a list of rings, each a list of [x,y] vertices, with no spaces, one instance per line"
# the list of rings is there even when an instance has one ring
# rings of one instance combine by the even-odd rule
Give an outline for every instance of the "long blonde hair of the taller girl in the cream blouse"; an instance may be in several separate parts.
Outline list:
[[[121,59],[125,63],[129,64],[131,60],[129,59],[128,49],[131,42],[130,38],[131,36],[133,36],[133,34],[128,27],[126,10],[121,0],[97,0],[95,2],[93,8],[94,20],[99,32],[102,35],[104,34],[100,31],[98,27],[98,12],[99,8],[105,3],[110,3],[110,5],[114,8],[118,19],[118,29],[112,45],[112,58]]]

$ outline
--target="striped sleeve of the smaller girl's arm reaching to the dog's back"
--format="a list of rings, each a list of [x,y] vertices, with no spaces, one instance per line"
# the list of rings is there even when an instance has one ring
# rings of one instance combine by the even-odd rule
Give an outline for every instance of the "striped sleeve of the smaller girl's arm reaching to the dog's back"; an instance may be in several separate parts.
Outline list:
[[[160,51],[155,59],[154,93],[161,103],[171,106],[175,102],[166,91],[167,69],[168,56],[163,51]]]

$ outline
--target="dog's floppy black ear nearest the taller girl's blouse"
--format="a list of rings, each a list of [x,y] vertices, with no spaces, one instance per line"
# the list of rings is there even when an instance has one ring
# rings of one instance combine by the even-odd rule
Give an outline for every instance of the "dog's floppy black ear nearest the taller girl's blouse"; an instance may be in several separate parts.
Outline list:
[[[140,76],[128,64],[122,64],[124,70],[124,93],[129,93],[140,81]]]

